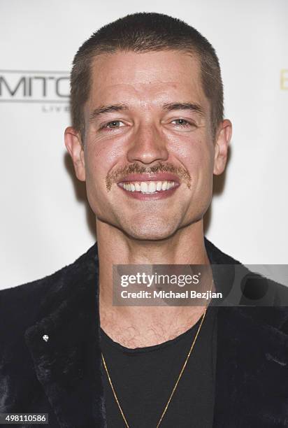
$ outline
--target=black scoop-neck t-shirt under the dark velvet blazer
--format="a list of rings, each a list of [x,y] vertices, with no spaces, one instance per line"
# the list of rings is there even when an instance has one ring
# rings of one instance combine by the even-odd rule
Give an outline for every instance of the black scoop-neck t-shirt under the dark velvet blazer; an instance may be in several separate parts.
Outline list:
[[[101,349],[117,398],[130,428],[154,428],[171,395],[200,320],[185,333],[160,345],[129,349],[101,329]],[[217,346],[217,308],[209,306],[194,349],[161,428],[211,428]],[[108,428],[125,427],[103,369]]]

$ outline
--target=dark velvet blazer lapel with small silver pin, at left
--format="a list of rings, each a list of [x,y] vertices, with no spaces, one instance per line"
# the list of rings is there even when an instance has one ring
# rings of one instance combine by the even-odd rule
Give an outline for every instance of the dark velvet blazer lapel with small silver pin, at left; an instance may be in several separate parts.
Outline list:
[[[106,427],[97,280],[94,245],[62,271],[41,309],[47,316],[25,333],[36,376],[62,428]]]

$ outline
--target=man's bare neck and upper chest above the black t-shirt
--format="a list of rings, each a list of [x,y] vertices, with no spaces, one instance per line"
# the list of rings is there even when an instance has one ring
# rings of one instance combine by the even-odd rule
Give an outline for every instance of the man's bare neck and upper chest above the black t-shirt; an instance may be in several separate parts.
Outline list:
[[[203,306],[113,306],[113,264],[209,264],[200,220],[159,241],[129,238],[96,222],[101,328],[127,348],[171,340],[199,320]]]

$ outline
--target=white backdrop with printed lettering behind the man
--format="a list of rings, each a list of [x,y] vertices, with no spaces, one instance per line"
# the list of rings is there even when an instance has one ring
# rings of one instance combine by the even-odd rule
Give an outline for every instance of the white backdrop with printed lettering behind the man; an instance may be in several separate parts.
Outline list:
[[[180,17],[220,59],[233,139],[206,236],[245,264],[287,264],[287,0],[1,0],[0,9],[0,288],[48,275],[95,241],[64,146],[66,78],[92,32],[136,11]]]

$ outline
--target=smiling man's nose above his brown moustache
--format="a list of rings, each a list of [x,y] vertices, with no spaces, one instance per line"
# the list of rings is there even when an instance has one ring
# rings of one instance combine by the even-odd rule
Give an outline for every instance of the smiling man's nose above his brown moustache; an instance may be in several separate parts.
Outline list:
[[[127,152],[129,162],[152,162],[166,161],[168,150],[164,137],[160,135],[155,125],[150,123],[140,124],[134,134],[131,147]]]

